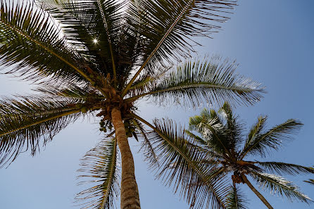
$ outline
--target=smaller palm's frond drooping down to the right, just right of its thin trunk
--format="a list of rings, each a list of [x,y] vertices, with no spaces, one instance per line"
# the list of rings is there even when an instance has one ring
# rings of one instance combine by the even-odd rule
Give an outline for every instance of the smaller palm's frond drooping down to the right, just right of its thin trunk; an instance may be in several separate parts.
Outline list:
[[[299,200],[304,203],[313,202],[308,196],[299,191],[298,186],[283,177],[259,172],[252,172],[251,177],[258,182],[261,188],[270,190],[271,194],[286,196],[291,202],[294,200]]]

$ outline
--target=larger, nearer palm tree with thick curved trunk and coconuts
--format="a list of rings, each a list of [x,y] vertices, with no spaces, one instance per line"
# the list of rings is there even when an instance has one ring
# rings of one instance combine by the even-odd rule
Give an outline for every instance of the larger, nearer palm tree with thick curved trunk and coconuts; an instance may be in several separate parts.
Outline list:
[[[81,171],[89,172],[82,176],[97,184],[78,196],[87,208],[108,208],[117,195],[118,148],[121,208],[140,208],[127,141],[139,133],[151,147],[144,129],[149,122],[137,115],[139,99],[193,107],[225,100],[253,104],[263,92],[260,84],[234,74],[234,61],[184,61],[194,52],[192,38],[218,31],[213,23],[225,22],[235,1],[0,3],[2,70],[37,85],[36,94],[0,101],[0,163],[25,150],[34,155],[70,122],[96,115],[101,132],[111,132],[82,160]],[[213,196],[219,205],[220,196]]]

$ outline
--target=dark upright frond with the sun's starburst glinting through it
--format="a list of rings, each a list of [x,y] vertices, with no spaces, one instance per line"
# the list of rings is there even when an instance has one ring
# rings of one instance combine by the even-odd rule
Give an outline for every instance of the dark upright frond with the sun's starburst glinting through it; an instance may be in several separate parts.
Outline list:
[[[125,24],[126,1],[38,0],[37,4],[63,24],[69,42],[104,75],[115,78],[117,72],[123,73],[120,65],[132,63],[136,43]]]

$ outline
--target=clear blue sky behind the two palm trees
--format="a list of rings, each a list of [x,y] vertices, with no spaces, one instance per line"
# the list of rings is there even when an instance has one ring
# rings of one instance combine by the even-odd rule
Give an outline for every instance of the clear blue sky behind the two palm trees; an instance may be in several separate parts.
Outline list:
[[[313,77],[314,77],[314,1],[263,0],[240,1],[232,19],[214,39],[202,41],[203,53],[219,53],[237,58],[238,72],[262,82],[268,94],[253,107],[239,107],[236,112],[251,126],[258,115],[269,115],[269,127],[297,118],[305,125],[296,139],[266,160],[314,165]],[[29,85],[0,75],[0,95],[30,93]],[[156,108],[142,103],[141,115],[149,120],[168,116],[182,123],[199,113],[179,108]],[[0,208],[70,209],[78,208],[73,198],[82,188],[75,186],[79,159],[101,138],[98,122],[77,120],[58,134],[54,141],[34,158],[20,155],[8,169],[0,170]],[[154,180],[147,171],[139,144],[132,142],[142,208],[188,208],[172,190]],[[314,198],[314,186],[303,183],[310,176],[287,176],[302,191]],[[314,176],[311,176],[314,178]],[[265,208],[260,200],[242,186],[250,208]],[[260,189],[259,189],[260,190]],[[276,209],[314,208],[314,204],[289,203],[287,199],[265,198]]]

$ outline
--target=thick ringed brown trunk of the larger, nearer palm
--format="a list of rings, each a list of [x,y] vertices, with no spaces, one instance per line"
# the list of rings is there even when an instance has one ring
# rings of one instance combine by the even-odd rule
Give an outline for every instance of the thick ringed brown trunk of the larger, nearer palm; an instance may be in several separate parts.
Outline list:
[[[113,108],[111,112],[113,126],[115,127],[115,137],[121,153],[122,176],[121,176],[121,209],[140,209],[139,189],[134,174],[134,160],[130,150],[125,126],[118,108]]]

